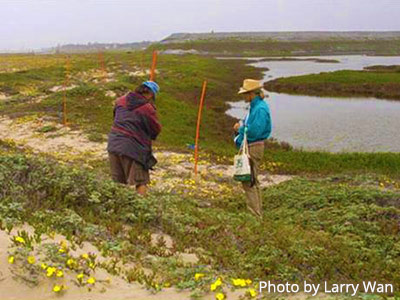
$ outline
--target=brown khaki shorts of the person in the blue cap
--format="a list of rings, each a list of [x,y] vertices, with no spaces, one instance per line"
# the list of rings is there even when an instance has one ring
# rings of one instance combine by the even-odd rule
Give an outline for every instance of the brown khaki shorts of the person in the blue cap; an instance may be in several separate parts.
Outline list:
[[[111,176],[116,182],[128,185],[146,185],[150,183],[149,171],[130,157],[108,153]]]

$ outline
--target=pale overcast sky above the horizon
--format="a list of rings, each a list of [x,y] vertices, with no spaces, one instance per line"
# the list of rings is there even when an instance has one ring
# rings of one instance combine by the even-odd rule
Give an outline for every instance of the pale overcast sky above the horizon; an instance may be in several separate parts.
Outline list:
[[[400,0],[0,0],[0,50],[211,30],[400,30]]]

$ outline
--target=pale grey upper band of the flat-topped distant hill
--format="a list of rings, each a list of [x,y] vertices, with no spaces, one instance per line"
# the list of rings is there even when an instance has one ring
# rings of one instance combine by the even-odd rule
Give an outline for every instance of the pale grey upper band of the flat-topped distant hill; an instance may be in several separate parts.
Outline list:
[[[244,41],[291,41],[307,42],[314,40],[392,40],[400,39],[400,31],[298,31],[298,32],[209,32],[174,33],[162,43],[179,43],[199,40],[244,40]]]

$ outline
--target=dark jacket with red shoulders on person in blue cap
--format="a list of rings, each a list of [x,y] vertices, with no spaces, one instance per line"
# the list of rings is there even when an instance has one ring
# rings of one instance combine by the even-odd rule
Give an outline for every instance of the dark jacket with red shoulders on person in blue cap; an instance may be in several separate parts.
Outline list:
[[[160,131],[155,106],[142,95],[129,93],[115,103],[107,151],[128,156],[145,170],[151,169],[157,163],[152,154],[152,140]]]

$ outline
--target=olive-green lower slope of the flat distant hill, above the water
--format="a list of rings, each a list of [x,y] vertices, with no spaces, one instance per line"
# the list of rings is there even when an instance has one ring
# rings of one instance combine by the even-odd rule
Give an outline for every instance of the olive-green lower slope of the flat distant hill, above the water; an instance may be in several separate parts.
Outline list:
[[[181,43],[156,44],[160,50],[197,50],[220,56],[291,56],[291,55],[399,55],[400,40],[319,40],[319,41],[245,41],[199,40]]]

